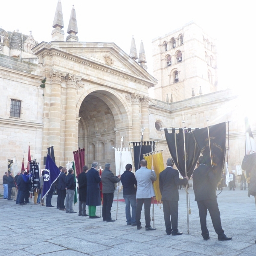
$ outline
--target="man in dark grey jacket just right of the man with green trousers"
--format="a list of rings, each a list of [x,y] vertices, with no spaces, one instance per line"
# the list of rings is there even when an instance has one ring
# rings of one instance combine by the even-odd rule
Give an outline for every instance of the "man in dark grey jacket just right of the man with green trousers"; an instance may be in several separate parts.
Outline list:
[[[103,221],[113,222],[111,219],[111,207],[114,199],[115,183],[120,181],[120,175],[114,176],[110,169],[110,163],[105,164],[105,169],[102,172],[102,193],[103,206],[102,217]]]

